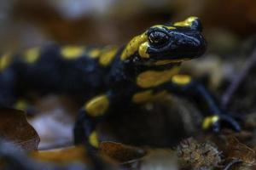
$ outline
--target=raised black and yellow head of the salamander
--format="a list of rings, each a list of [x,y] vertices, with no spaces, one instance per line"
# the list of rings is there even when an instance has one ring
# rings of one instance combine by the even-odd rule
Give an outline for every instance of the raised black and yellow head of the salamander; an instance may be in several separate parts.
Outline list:
[[[195,59],[204,54],[207,46],[201,31],[201,22],[196,17],[172,26],[152,26],[127,44],[121,59],[137,54],[138,65],[155,67]]]

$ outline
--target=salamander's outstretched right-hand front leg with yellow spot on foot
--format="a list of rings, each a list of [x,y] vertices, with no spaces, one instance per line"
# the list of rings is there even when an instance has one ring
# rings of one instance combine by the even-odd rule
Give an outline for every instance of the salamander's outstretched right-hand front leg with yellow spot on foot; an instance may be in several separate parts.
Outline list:
[[[240,131],[238,122],[227,111],[223,111],[217,104],[213,96],[207,89],[198,82],[192,80],[188,75],[176,75],[172,77],[172,82],[165,85],[172,94],[183,95],[195,102],[205,114],[202,127],[208,129],[212,127],[213,132],[218,133],[222,123]]]

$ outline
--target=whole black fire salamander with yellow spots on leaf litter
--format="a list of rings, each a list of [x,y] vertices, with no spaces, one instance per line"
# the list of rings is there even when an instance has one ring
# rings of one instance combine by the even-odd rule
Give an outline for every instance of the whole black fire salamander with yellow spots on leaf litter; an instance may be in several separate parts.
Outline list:
[[[202,127],[220,130],[220,124],[240,130],[200,83],[179,75],[185,60],[206,50],[197,17],[157,25],[133,37],[125,47],[49,45],[0,58],[0,105],[13,106],[28,92],[67,94],[82,107],[74,127],[76,144],[98,146],[96,124],[125,107],[141,105],[160,94],[189,97],[206,114]]]

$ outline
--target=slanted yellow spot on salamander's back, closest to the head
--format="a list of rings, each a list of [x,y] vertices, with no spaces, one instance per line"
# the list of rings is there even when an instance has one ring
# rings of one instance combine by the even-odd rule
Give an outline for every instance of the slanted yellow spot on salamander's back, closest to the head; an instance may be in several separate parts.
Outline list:
[[[112,47],[112,48],[103,50],[99,59],[99,63],[103,66],[109,65],[113,60],[115,54],[117,53],[117,50],[118,50],[117,47]]]

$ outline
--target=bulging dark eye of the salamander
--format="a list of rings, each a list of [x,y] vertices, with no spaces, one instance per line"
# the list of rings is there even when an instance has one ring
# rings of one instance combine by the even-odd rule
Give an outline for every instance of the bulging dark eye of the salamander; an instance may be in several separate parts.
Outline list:
[[[168,42],[169,37],[161,31],[153,31],[148,36],[148,42],[154,47],[160,47]]]

